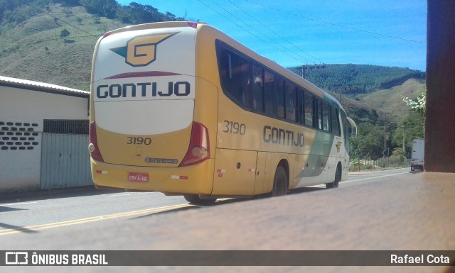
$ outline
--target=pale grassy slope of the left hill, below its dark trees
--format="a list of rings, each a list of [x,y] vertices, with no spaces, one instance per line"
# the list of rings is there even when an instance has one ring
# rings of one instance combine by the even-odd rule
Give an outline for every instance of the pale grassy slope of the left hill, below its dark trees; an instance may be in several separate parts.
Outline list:
[[[38,13],[16,26],[1,26],[0,74],[88,91],[97,39],[124,24],[107,18],[97,23],[81,6],[53,4],[47,12],[67,23]],[[65,28],[70,35],[60,38]]]

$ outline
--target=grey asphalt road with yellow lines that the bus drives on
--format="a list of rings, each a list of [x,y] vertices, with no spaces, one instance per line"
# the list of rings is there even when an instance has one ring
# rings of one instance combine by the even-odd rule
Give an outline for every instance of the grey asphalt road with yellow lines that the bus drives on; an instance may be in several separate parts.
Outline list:
[[[355,172],[341,187],[379,183],[396,175],[409,174],[407,169],[380,172]],[[289,194],[325,189],[324,185],[296,189]],[[232,201],[219,201],[218,205]],[[44,230],[64,225],[77,225],[114,218],[132,218],[162,211],[196,208],[182,196],[164,196],[156,192],[94,191],[60,193],[55,196],[16,198],[0,201],[0,235],[23,230]]]

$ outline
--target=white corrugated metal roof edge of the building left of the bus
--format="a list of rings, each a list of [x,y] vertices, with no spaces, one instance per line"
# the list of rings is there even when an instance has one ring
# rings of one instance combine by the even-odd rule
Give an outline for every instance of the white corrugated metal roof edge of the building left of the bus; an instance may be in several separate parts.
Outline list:
[[[4,76],[0,76],[0,86],[44,91],[48,93],[63,94],[68,96],[82,96],[87,98],[90,96],[89,91],[82,91],[68,87],[60,87],[59,85],[55,84],[47,84],[45,82],[33,82],[27,79],[16,79]]]

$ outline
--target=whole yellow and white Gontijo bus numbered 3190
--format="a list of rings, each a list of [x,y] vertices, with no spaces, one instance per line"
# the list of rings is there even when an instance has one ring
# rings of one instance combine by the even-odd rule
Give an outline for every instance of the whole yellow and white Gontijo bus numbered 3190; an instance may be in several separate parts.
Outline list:
[[[350,125],[333,96],[205,23],[149,23],[95,47],[90,154],[97,188],[221,196],[337,187]]]

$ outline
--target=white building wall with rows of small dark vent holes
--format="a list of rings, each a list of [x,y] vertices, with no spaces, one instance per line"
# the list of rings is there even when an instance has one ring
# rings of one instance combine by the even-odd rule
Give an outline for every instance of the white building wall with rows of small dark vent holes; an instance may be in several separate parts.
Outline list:
[[[0,87],[0,192],[39,189],[43,120],[88,119],[87,107],[88,98]],[[11,135],[12,127],[16,128],[14,135]],[[8,128],[10,135],[2,128]],[[25,150],[11,150],[13,146]]]

